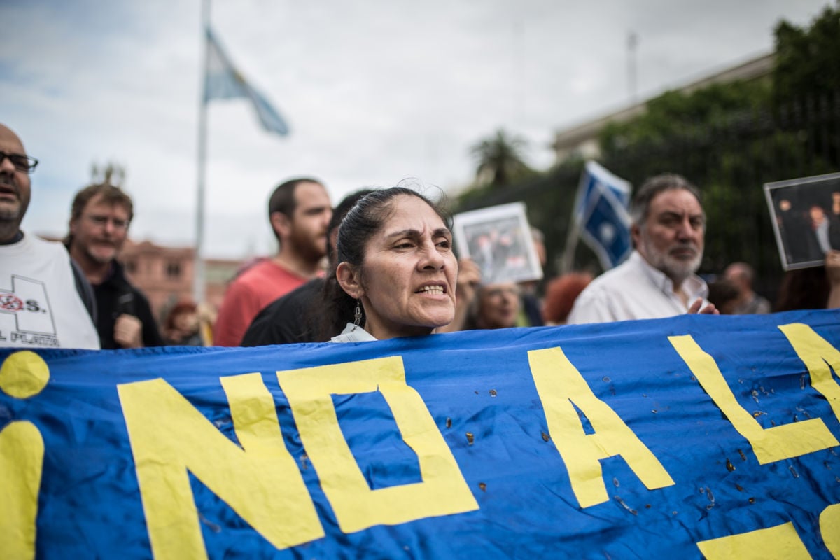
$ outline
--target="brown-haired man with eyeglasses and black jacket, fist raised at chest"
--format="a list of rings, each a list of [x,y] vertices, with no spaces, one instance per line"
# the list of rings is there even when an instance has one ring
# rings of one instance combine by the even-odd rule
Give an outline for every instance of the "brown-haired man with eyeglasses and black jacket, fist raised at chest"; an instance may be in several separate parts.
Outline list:
[[[117,260],[134,217],[131,197],[108,183],[86,186],[71,206],[67,249],[93,285],[102,348],[163,346],[149,300]]]

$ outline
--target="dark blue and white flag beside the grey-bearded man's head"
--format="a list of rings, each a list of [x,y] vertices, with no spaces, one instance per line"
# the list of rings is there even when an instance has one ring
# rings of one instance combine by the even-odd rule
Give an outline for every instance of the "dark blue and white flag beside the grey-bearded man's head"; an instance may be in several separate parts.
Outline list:
[[[575,227],[604,270],[620,264],[633,249],[629,203],[630,183],[595,161],[586,162],[575,200]]]

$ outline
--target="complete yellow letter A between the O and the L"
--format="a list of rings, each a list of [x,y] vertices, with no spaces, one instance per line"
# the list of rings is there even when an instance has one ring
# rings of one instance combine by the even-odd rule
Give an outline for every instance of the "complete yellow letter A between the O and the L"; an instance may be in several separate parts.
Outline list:
[[[674,484],[668,471],[627,424],[592,392],[560,348],[528,352],[531,374],[543,401],[545,419],[581,507],[601,504],[606,495],[601,459],[621,455],[648,489]],[[587,435],[572,403],[589,419]]]

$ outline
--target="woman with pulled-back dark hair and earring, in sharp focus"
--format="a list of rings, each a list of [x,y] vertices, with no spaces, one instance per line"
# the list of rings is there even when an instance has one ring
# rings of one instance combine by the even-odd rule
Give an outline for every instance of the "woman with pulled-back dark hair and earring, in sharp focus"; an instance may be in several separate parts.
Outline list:
[[[339,228],[338,264],[324,285],[323,340],[419,336],[452,322],[458,263],[448,222],[432,201],[401,186],[362,198]]]

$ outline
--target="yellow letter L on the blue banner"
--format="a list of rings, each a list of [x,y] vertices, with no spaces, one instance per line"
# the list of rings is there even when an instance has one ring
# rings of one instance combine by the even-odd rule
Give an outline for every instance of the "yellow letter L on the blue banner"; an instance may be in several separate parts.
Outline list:
[[[746,437],[753,447],[759,463],[773,463],[782,459],[799,457],[820,449],[840,445],[837,438],[819,418],[763,428],[743,406],[735,400],[735,395],[723,379],[715,360],[695,342],[690,335],[669,337],[677,353],[691,369],[706,393],[727,416],[732,426]]]

